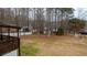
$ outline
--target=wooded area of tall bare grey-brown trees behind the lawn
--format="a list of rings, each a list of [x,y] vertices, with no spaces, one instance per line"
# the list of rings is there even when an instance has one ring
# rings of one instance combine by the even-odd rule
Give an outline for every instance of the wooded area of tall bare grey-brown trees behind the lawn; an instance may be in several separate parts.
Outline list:
[[[54,34],[61,30],[67,34],[76,29],[69,25],[69,20],[84,21],[75,19],[74,11],[73,8],[0,8],[0,23],[28,26],[33,34]],[[80,26],[84,28],[85,22]]]

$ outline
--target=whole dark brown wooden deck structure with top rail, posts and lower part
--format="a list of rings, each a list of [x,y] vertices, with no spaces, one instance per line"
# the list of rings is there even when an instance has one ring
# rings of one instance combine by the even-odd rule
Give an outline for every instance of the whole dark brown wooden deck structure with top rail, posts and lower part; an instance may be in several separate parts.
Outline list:
[[[18,55],[20,55],[19,29],[19,26],[0,25],[0,55],[4,55],[17,48]],[[10,35],[12,31],[17,33],[17,36]]]

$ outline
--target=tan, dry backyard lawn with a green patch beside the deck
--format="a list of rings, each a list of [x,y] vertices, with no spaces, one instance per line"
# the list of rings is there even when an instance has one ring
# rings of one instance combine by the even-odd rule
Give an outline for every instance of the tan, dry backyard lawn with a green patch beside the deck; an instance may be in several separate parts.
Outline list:
[[[22,56],[87,56],[87,37],[70,35],[21,36]]]

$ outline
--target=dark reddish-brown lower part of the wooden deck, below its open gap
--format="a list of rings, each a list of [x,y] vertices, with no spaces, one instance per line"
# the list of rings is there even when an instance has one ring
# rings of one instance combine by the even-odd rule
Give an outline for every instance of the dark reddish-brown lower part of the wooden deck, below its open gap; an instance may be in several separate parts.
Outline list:
[[[19,37],[2,35],[2,39],[0,39],[0,55],[17,50],[19,47]]]

